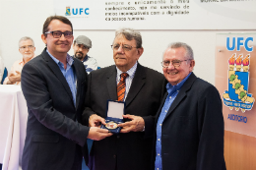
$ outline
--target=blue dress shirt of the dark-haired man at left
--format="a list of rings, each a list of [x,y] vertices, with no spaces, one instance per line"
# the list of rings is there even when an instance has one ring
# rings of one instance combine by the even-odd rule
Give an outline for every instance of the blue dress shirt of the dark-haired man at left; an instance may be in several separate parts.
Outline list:
[[[51,55],[48,50],[46,50],[46,52],[49,54],[52,60],[59,66],[61,73],[63,74],[64,78],[66,79],[70,87],[70,90],[72,92],[73,102],[74,102],[74,105],[76,106],[77,76],[73,71],[73,68],[71,67],[74,63],[73,58],[69,54],[67,54],[67,68],[65,70],[64,64],[62,64],[58,59],[56,59],[53,55]]]

